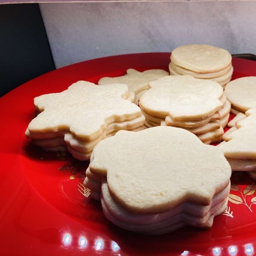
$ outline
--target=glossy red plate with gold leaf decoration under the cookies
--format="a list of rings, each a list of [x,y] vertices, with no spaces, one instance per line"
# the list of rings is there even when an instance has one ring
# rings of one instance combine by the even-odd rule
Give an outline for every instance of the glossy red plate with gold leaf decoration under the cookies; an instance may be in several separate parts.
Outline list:
[[[169,56],[142,53],[84,61],[33,79],[0,99],[0,255],[254,254],[255,181],[246,173],[232,177],[236,185],[227,211],[211,229],[185,227],[142,236],[109,222],[101,204],[79,188],[88,163],[69,153],[57,157],[41,151],[24,135],[35,116],[35,96],[60,92],[79,80],[97,83],[103,76],[121,76],[131,67],[168,70]],[[256,62],[233,58],[233,66],[233,79],[256,76]]]

